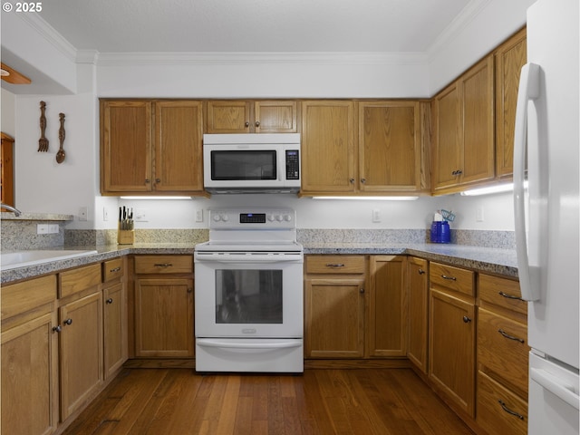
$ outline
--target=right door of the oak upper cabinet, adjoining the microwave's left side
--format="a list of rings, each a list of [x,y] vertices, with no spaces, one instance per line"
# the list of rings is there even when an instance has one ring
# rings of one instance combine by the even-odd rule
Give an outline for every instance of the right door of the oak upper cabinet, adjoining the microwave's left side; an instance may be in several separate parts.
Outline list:
[[[202,108],[202,102],[155,103],[156,191],[203,190]]]

